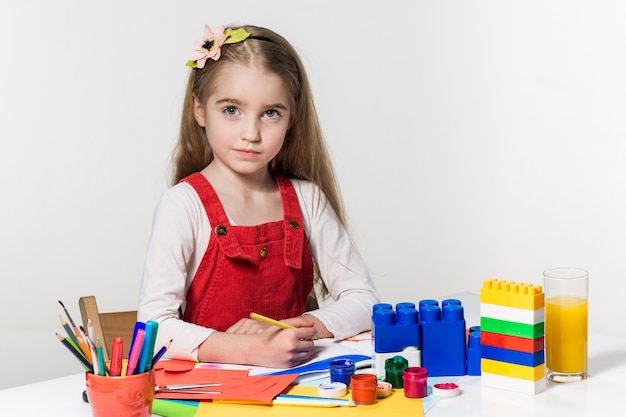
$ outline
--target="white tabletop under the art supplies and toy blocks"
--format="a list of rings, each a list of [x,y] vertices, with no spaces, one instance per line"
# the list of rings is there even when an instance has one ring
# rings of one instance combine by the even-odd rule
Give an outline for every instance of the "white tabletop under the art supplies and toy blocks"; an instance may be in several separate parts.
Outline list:
[[[462,293],[468,326],[479,318],[478,297]],[[457,382],[461,395],[439,399],[426,414],[439,416],[599,416],[626,415],[626,338],[589,332],[589,377],[580,382],[551,383],[537,395],[482,387],[480,377],[465,376]],[[82,400],[85,375],[76,374],[0,390],[2,416],[88,417],[91,409]]]

